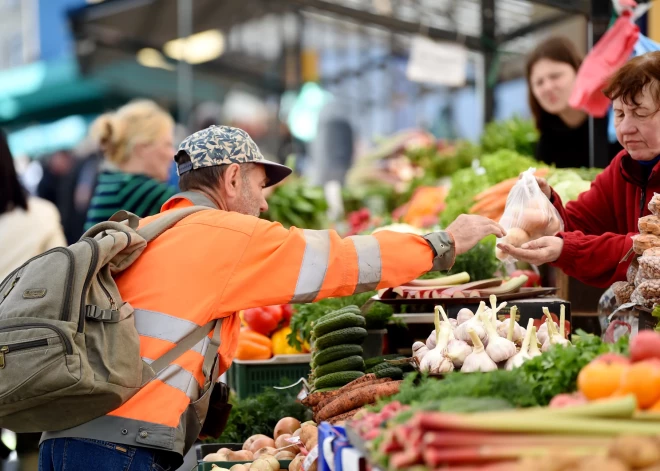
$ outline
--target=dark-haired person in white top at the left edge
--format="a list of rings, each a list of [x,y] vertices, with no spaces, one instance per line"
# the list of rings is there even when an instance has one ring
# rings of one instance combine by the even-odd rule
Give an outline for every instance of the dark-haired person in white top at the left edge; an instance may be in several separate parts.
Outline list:
[[[0,280],[35,255],[64,245],[57,208],[27,195],[18,180],[7,137],[0,131]]]

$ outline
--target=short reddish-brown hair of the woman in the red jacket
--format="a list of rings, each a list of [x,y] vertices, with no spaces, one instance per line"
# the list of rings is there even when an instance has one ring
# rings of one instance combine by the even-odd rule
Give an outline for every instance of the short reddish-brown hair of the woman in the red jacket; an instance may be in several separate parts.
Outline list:
[[[646,86],[650,86],[653,101],[660,107],[660,51],[637,56],[610,78],[605,95],[610,100],[621,98],[626,105],[639,106],[637,101]]]

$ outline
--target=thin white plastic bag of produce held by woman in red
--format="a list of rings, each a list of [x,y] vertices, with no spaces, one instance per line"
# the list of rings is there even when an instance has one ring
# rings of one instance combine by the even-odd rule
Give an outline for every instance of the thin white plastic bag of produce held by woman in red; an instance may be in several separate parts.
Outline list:
[[[543,194],[534,177],[535,168],[522,174],[509,192],[500,225],[507,231],[502,242],[514,247],[545,236],[554,236],[564,230],[564,222],[557,209]],[[503,262],[516,260],[497,250]]]

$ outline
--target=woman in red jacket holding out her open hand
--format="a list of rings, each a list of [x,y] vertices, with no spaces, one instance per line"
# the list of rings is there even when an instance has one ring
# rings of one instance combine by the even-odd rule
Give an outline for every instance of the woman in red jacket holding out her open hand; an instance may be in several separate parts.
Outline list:
[[[545,180],[541,189],[559,210],[565,232],[515,248],[498,247],[518,260],[551,263],[567,275],[597,287],[624,281],[632,257],[637,220],[660,193],[660,52],[636,57],[610,80],[616,135],[624,147],[593,182],[566,207]]]

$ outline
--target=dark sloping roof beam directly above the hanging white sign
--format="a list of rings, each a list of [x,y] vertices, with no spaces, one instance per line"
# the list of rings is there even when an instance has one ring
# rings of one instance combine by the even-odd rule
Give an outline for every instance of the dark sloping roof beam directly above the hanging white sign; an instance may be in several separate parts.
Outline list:
[[[300,8],[311,8],[314,10],[323,11],[325,13],[332,13],[339,16],[351,18],[360,23],[368,23],[372,25],[387,28],[390,31],[400,33],[419,33],[421,26],[419,23],[404,21],[390,16],[378,15],[357,8],[339,5],[327,0],[282,0],[289,5],[297,5]],[[456,31],[447,31],[440,28],[428,27],[424,28],[424,32],[433,39],[456,41],[458,35]],[[483,51],[483,43],[480,38],[475,36],[461,36],[461,42],[465,44],[468,49],[473,51]]]

